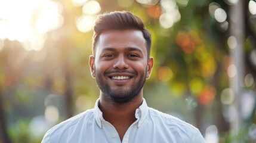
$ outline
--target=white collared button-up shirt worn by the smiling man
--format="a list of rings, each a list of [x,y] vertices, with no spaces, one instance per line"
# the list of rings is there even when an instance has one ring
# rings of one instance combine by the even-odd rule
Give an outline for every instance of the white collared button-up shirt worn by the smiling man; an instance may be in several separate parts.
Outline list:
[[[94,109],[78,114],[48,130],[42,143],[121,143],[118,132],[103,114],[96,101]],[[194,126],[176,117],[147,107],[146,101],[135,111],[136,121],[129,126],[122,143],[203,143]]]

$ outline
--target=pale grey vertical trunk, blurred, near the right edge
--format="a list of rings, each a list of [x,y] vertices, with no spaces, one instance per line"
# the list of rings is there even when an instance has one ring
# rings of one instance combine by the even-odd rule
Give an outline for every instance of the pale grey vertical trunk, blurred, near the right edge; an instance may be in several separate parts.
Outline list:
[[[242,126],[241,118],[241,95],[244,78],[244,48],[243,43],[245,33],[245,20],[244,20],[244,1],[238,1],[237,4],[230,5],[230,35],[234,36],[237,45],[235,48],[230,49],[230,55],[232,57],[232,64],[235,66],[236,74],[230,77],[230,88],[235,93],[235,101],[233,107],[236,109],[235,118],[230,123],[230,130],[233,134],[239,132]]]

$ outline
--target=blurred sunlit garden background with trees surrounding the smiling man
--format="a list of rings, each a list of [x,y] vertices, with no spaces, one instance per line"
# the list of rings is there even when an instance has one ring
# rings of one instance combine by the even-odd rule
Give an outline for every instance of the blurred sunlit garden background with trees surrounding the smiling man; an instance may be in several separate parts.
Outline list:
[[[41,142],[94,107],[92,26],[127,10],[152,32],[150,107],[206,142],[256,142],[255,0],[0,0],[0,142]]]

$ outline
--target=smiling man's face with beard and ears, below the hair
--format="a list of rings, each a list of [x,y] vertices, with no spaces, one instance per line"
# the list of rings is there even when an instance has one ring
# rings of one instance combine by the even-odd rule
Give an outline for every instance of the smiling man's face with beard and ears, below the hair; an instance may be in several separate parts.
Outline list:
[[[142,95],[153,58],[147,58],[140,30],[107,30],[101,33],[95,50],[95,57],[90,57],[91,74],[104,99],[120,104]]]

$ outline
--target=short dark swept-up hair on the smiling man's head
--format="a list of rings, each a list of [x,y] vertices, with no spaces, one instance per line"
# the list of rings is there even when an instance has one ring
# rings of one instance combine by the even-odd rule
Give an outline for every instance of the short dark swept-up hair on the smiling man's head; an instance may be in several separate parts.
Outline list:
[[[151,48],[151,34],[149,30],[144,27],[144,23],[141,18],[128,11],[114,11],[111,13],[101,14],[98,16],[94,25],[94,35],[92,36],[92,53],[95,55],[95,46],[98,42],[98,38],[105,30],[125,30],[125,29],[138,29],[143,33],[146,40],[147,57],[150,55]]]

